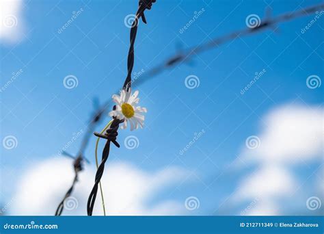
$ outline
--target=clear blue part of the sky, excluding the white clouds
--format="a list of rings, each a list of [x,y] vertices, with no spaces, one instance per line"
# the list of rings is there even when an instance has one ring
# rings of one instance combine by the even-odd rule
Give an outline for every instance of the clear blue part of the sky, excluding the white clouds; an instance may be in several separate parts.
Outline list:
[[[321,1],[158,1],[146,12],[148,24],[139,23],[133,71],[144,70],[145,74],[180,48],[243,29],[247,16],[262,18],[265,8],[277,16],[316,3]],[[204,12],[180,34],[202,8]],[[92,99],[103,103],[122,87],[129,49],[124,18],[136,9],[137,1],[23,1],[17,16],[18,26],[23,25],[19,38],[0,44],[1,86],[13,72],[23,70],[1,92],[1,139],[14,135],[18,142],[16,148],[1,148],[1,203],[14,196],[25,171],[58,157],[55,155],[73,133],[85,132],[94,111]],[[59,33],[78,10],[81,14]],[[265,116],[273,109],[291,103],[316,109],[323,103],[323,86],[306,86],[310,75],[323,77],[323,18],[301,34],[313,18],[314,14],[278,25],[276,31],[240,37],[141,84],[140,102],[148,109],[146,128],[120,131],[122,147],[111,149],[108,164],[126,161],[145,172],[183,168],[187,177],[166,187],[153,201],[172,199],[182,204],[195,196],[200,208],[194,214],[236,214],[246,204],[230,211],[223,206],[241,179],[254,170],[255,165],[229,169],[243,154],[245,140],[262,133]],[[263,69],[265,74],[242,95],[241,90]],[[77,87],[64,87],[68,75],[77,77]],[[185,86],[189,75],[198,77],[197,88]],[[96,131],[107,121],[108,116]],[[202,130],[202,137],[180,155]],[[133,150],[123,144],[129,135],[139,141]],[[81,139],[66,151],[77,153]],[[94,167],[95,140],[91,139],[85,153],[90,167]],[[293,168],[302,186],[310,177],[316,181],[314,172],[321,161],[314,159],[307,166]],[[316,195],[315,187],[310,185],[307,197]],[[309,213],[305,207],[291,212]]]

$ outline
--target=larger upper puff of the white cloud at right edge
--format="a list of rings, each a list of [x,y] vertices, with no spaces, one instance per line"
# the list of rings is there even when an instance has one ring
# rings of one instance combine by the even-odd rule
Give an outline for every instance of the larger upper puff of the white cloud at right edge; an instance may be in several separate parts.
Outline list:
[[[285,105],[268,114],[267,128],[258,135],[260,147],[245,150],[247,159],[265,163],[299,164],[321,157],[324,110],[319,107]]]

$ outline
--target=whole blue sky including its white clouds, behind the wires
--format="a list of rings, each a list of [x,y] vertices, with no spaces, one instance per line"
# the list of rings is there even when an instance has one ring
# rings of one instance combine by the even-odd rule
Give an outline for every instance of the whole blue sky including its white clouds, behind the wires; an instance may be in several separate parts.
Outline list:
[[[133,77],[178,50],[251,26],[265,9],[277,16],[318,3],[154,3],[148,24],[139,23]],[[77,153],[93,100],[121,88],[137,3],[0,4],[1,213],[53,215],[73,179],[72,159],[59,152]],[[240,36],[140,83],[145,128],[121,130],[121,148],[111,148],[107,213],[323,213],[323,14]],[[64,215],[86,214],[95,140]],[[99,194],[94,214],[103,214]]]

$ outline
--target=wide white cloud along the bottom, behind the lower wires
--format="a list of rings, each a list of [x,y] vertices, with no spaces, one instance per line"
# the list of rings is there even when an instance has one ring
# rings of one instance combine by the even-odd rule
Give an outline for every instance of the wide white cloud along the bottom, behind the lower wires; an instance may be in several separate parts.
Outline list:
[[[94,183],[94,165],[85,166],[72,196],[78,207],[65,210],[64,215],[86,215],[87,197]],[[108,215],[176,215],[185,213],[182,203],[174,200],[154,201],[154,196],[166,187],[180,183],[187,172],[180,168],[165,168],[149,173],[125,163],[107,164],[103,190]],[[69,159],[54,158],[33,165],[21,175],[10,215],[50,215],[55,213],[73,178]],[[100,192],[94,215],[102,215]]]

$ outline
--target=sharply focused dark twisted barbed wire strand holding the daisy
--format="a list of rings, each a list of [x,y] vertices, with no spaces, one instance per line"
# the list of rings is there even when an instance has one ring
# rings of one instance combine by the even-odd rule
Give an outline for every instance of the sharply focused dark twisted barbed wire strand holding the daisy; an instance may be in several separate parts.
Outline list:
[[[146,23],[146,17],[144,15],[144,11],[146,9],[150,10],[152,8],[152,3],[154,3],[156,0],[139,0],[139,7],[135,16],[135,20],[131,27],[131,34],[130,34],[130,47],[129,47],[129,54],[127,57],[127,76],[124,81],[124,85],[122,87],[123,90],[129,90],[131,88],[131,75],[133,71],[134,66],[134,44],[137,34],[137,26],[139,18]],[[114,107],[115,108],[115,107]],[[112,142],[117,146],[118,148],[120,145],[118,142],[116,142],[117,135],[118,135],[118,127],[120,123],[124,122],[124,120],[119,120],[118,118],[113,118],[111,125],[109,129],[104,134],[100,133],[94,133],[99,138],[104,138],[107,140],[105,147],[103,148],[103,155],[101,158],[100,165],[98,166],[96,177],[94,179],[94,187],[92,188],[92,191],[90,192],[89,198],[87,200],[87,215],[92,216],[92,212],[94,210],[94,203],[96,201],[96,195],[98,192],[98,185],[100,183],[101,177],[103,177],[103,172],[105,170],[105,163],[109,157],[109,151],[110,151],[110,143]]]

